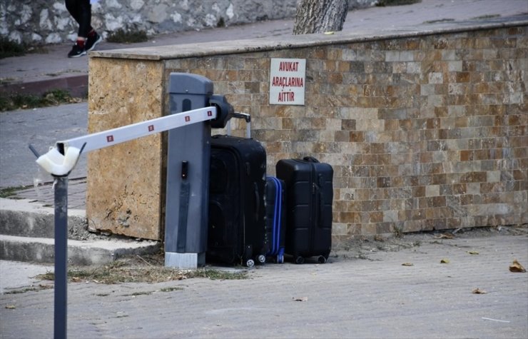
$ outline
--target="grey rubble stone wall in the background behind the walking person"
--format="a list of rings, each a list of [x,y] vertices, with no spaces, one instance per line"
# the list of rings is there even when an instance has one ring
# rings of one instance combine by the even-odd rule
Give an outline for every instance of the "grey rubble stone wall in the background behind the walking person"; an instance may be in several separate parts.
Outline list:
[[[349,0],[350,9],[375,0]],[[118,29],[148,35],[249,24],[295,15],[296,0],[92,0],[92,26],[103,38]],[[64,0],[0,1],[0,36],[12,41],[57,44],[73,41],[78,25]]]

